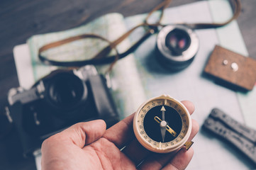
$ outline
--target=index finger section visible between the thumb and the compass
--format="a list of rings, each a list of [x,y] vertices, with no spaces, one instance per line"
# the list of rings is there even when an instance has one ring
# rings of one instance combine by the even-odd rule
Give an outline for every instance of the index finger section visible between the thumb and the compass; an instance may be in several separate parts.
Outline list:
[[[119,149],[123,148],[128,142],[135,138],[133,132],[133,117],[134,113],[121,120],[119,123],[116,123],[116,125],[106,130],[103,137],[113,142]]]

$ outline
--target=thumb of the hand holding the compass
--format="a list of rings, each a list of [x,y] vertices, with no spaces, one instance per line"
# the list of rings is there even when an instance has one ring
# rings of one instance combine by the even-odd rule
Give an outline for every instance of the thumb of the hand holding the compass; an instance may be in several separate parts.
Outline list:
[[[69,140],[78,147],[84,147],[98,140],[106,131],[104,120],[92,120],[84,123],[77,123],[60,132],[58,137],[62,140]]]

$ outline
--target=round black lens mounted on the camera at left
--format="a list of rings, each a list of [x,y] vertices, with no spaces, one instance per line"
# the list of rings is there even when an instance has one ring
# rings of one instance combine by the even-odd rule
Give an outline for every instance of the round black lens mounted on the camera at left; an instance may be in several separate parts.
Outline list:
[[[59,73],[49,84],[49,96],[58,108],[73,108],[81,101],[87,88],[74,74]]]

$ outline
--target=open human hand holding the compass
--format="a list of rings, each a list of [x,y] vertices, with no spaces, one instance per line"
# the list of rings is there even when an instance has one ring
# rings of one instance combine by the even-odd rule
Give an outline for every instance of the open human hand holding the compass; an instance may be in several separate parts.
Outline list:
[[[182,101],[182,103],[189,113],[194,112],[194,105],[191,102]],[[77,123],[49,137],[42,145],[42,169],[185,169],[187,167],[193,157],[192,148],[189,150],[182,148],[168,154],[148,151],[135,138],[133,117],[134,114],[128,116],[108,130],[103,120]],[[199,125],[193,120],[189,141],[198,131]],[[123,147],[125,148],[122,149]]]

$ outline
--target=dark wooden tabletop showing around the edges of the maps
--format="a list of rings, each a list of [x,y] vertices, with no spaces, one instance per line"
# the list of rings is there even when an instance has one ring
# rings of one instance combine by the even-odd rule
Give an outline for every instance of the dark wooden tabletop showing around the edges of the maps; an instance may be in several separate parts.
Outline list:
[[[174,0],[179,6],[196,0]],[[6,94],[18,86],[13,47],[26,43],[31,35],[74,28],[106,13],[123,16],[147,13],[156,0],[1,0],[0,1],[0,107]],[[238,25],[249,56],[256,59],[256,1],[242,1]],[[0,140],[0,169],[35,169],[34,159],[25,159],[15,128]]]

